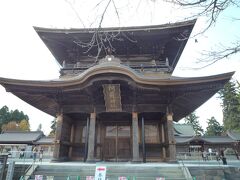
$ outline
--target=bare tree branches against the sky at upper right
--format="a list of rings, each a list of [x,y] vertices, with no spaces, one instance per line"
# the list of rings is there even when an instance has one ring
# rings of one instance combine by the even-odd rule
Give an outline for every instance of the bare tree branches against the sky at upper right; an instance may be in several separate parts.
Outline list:
[[[197,17],[207,17],[207,26],[201,31],[195,34],[191,38],[195,38],[198,35],[205,33],[210,27],[212,27],[218,20],[219,15],[223,13],[229,7],[240,7],[239,0],[164,0],[166,2],[177,4],[180,7],[195,8],[196,12],[190,15],[186,19],[192,19]],[[233,21],[240,20],[239,17],[232,18]],[[180,38],[181,39],[181,38]],[[179,40],[179,39],[177,39]],[[232,43],[231,47],[221,45],[220,50],[204,51],[202,58],[199,59],[198,63],[205,63],[206,65],[193,68],[202,69],[210,66],[222,59],[229,58],[230,56],[240,52],[240,41],[239,39]]]

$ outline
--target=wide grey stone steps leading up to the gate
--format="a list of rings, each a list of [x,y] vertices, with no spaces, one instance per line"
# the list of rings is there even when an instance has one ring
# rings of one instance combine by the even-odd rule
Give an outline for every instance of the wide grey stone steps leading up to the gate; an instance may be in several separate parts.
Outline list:
[[[95,166],[44,166],[40,165],[34,172],[34,175],[54,176],[55,179],[86,179],[86,176],[94,176]],[[156,179],[156,177],[165,177],[165,179],[184,180],[184,174],[180,167],[159,167],[159,166],[107,166],[107,177],[109,180],[117,179],[120,176],[130,177],[132,179]]]

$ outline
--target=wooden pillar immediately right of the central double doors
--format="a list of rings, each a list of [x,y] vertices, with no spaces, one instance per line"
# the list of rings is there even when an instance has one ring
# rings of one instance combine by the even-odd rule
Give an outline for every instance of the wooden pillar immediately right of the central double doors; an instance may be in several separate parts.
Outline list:
[[[132,113],[132,161],[138,162],[139,159],[139,134],[138,134],[138,114]]]

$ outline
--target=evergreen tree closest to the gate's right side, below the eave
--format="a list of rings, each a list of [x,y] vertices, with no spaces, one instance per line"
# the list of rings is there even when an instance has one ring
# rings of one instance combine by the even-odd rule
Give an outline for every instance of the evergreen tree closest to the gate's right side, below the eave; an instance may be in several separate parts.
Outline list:
[[[199,117],[196,115],[196,113],[192,112],[191,114],[189,114],[188,116],[186,116],[184,118],[184,121],[185,121],[186,124],[191,124],[193,126],[194,131],[195,131],[195,134],[197,136],[200,136],[200,135],[203,134],[203,128],[199,124],[198,118]]]

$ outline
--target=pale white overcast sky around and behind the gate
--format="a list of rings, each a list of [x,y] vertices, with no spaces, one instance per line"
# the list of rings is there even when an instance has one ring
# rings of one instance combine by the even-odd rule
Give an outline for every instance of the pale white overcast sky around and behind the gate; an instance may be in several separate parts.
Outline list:
[[[70,2],[70,3],[69,3]],[[95,2],[95,3],[93,3]],[[64,1],[64,0],[1,0],[0,1],[0,77],[14,79],[46,80],[59,77],[59,65],[33,29],[33,26],[52,28],[83,28],[97,26],[104,4],[99,1]],[[103,1],[105,3],[107,1]],[[141,3],[140,3],[141,2]],[[124,1],[118,6],[118,16],[113,5],[107,11],[103,26],[154,25],[180,20],[189,13],[189,9],[180,11],[169,9],[161,1]],[[76,13],[77,12],[77,13]],[[179,13],[181,12],[181,13]],[[236,71],[234,78],[240,80],[240,57],[232,56],[212,66],[200,70],[196,63],[203,50],[228,45],[238,38],[240,26],[231,21],[230,16],[239,13],[229,10],[221,16],[216,26],[204,35],[189,39],[187,46],[174,71],[175,76],[208,76]],[[178,16],[176,16],[178,14]],[[84,25],[83,25],[84,24]],[[193,35],[204,27],[204,18],[199,18]],[[197,38],[198,43],[195,43]],[[191,68],[190,68],[191,67]],[[30,117],[31,130],[43,125],[46,134],[50,131],[50,122],[54,117],[28,105],[0,86],[0,107],[7,105],[11,110],[19,109]],[[206,119],[215,116],[222,121],[220,101],[213,97],[197,110],[200,123],[205,128]]]

